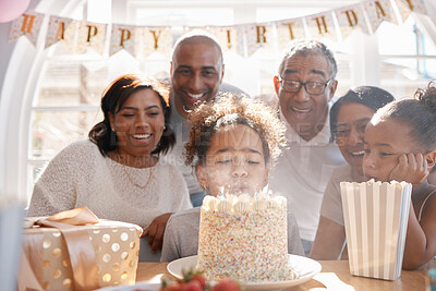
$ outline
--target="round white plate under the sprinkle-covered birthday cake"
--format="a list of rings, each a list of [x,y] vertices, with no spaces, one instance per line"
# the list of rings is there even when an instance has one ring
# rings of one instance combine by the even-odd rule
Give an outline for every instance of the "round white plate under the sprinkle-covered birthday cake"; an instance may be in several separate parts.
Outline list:
[[[168,264],[168,271],[175,278],[182,278],[182,269],[195,268],[197,265],[197,256],[189,256],[175,259]],[[298,274],[292,280],[245,283],[245,290],[280,290],[292,286],[301,284],[308,281],[312,277],[320,271],[320,264],[312,258],[289,254],[289,266]]]

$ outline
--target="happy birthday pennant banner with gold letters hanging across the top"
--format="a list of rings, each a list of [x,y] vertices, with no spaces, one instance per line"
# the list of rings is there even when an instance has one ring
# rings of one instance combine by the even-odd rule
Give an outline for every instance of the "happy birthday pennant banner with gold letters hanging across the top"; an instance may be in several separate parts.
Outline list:
[[[242,57],[251,57],[258,49],[283,50],[290,40],[303,37],[346,39],[352,32],[374,34],[382,22],[399,24],[411,12],[427,14],[424,0],[368,0],[335,10],[303,17],[231,26],[202,27],[214,35],[223,51],[234,51]],[[397,20],[396,12],[400,15]],[[11,24],[9,40],[26,36],[36,46],[46,15],[27,11]],[[153,52],[170,56],[174,41],[171,26],[135,26],[125,24],[104,24],[48,15],[45,48],[58,43],[71,53],[84,53],[93,49],[105,56],[125,50],[138,59]],[[335,24],[335,19],[336,23]],[[338,25],[338,26],[337,26]],[[187,33],[199,27],[183,27]],[[110,29],[109,39],[107,39]]]

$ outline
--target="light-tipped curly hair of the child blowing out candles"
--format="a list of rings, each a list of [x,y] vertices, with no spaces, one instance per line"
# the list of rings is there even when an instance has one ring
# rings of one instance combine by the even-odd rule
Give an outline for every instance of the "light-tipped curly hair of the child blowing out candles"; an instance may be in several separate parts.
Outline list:
[[[265,163],[275,161],[286,146],[286,126],[271,108],[243,94],[226,93],[214,104],[202,104],[187,117],[192,123],[185,145],[185,163],[204,165],[214,133],[231,124],[244,124],[261,137]],[[195,165],[194,165],[195,163]]]

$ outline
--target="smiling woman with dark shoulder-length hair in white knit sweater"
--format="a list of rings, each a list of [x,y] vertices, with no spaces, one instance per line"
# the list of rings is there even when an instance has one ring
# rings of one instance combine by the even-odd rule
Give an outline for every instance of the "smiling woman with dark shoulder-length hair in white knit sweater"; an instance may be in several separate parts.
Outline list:
[[[171,214],[191,207],[181,173],[159,161],[174,143],[166,126],[168,92],[156,80],[123,75],[104,94],[101,110],[105,118],[89,140],[50,161],[35,184],[28,215],[86,206],[99,218],[144,228],[154,253]]]

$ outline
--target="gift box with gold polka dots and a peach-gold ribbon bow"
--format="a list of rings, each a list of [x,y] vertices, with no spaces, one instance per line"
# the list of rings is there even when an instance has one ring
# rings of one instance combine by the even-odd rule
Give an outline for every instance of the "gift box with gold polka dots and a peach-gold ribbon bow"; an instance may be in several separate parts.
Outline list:
[[[26,223],[19,287],[93,290],[135,283],[141,227],[98,219],[86,207]]]

